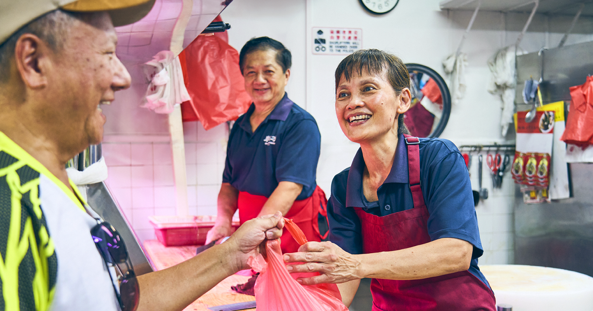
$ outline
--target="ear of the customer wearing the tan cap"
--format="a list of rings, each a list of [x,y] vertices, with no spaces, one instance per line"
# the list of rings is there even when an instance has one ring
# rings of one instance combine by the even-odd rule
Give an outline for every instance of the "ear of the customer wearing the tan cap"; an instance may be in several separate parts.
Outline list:
[[[40,89],[47,85],[50,53],[52,50],[47,44],[34,34],[27,33],[18,38],[14,49],[15,63],[28,88]]]

